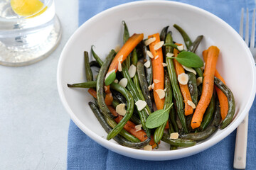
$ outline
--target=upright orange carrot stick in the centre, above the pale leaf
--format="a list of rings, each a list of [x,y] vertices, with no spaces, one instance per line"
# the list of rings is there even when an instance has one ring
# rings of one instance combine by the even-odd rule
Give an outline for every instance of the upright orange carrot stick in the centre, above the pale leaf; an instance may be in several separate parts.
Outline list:
[[[153,82],[154,82],[154,101],[156,103],[157,110],[164,108],[164,98],[160,99],[158,94],[156,93],[157,89],[164,90],[164,67],[163,67],[163,52],[162,49],[154,50],[154,45],[157,42],[160,42],[159,33],[154,35],[149,35],[148,38],[156,38],[154,42],[149,45],[149,50],[154,56],[152,61],[152,69],[153,69]],[[158,57],[157,57],[158,56]]]

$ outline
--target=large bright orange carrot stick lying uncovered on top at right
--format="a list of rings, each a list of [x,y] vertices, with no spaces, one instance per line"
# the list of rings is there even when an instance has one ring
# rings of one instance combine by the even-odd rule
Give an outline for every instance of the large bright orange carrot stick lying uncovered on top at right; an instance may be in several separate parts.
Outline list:
[[[203,91],[191,121],[191,127],[193,129],[198,128],[201,125],[203,114],[206,112],[206,108],[213,96],[214,74],[219,52],[220,50],[216,46],[210,46],[208,48],[206,68],[203,73]]]

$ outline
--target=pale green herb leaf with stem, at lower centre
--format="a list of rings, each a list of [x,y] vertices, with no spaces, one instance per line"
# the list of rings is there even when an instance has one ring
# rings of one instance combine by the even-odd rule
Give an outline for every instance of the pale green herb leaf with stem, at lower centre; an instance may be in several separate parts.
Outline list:
[[[171,106],[172,105],[173,103],[171,103]],[[171,108],[171,106],[169,106],[169,108]],[[146,128],[153,129],[164,124],[169,118],[169,108],[166,108],[166,110],[161,109],[151,113],[146,119]]]

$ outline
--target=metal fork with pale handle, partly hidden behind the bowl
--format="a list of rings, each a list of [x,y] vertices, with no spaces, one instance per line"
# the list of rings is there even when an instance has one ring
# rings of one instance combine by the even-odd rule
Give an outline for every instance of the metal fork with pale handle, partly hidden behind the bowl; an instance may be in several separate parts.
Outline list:
[[[240,29],[239,34],[243,38],[243,18],[244,8],[241,10]],[[256,48],[255,48],[255,8],[253,9],[252,16],[252,30],[249,44],[249,12],[246,10],[246,23],[245,23],[245,43],[250,48],[254,60],[256,60]],[[248,113],[242,123],[237,128],[237,135],[235,139],[235,156],[234,156],[234,168],[245,169],[246,166],[246,150],[247,150],[247,130],[248,130]]]

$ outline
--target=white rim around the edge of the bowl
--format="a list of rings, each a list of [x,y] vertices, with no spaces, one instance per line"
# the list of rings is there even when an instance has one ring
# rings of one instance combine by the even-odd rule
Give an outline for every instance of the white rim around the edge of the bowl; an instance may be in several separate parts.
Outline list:
[[[107,141],[106,139],[103,139],[99,135],[95,134],[95,132],[92,132],[92,130],[87,128],[85,125],[83,125],[83,123],[75,116],[75,113],[73,113],[70,106],[68,106],[68,102],[65,100],[65,97],[64,97],[63,86],[61,84],[61,72],[60,72],[60,70],[63,69],[63,64],[62,64],[63,58],[65,56],[65,51],[67,50],[68,46],[70,45],[70,42],[72,42],[73,39],[80,34],[80,32],[82,31],[82,28],[89,25],[92,21],[97,20],[97,18],[104,16],[105,13],[115,11],[116,9],[119,9],[119,8],[126,8],[127,6],[131,7],[131,6],[138,6],[138,5],[145,5],[145,4],[149,4],[149,5],[160,4],[160,5],[171,5],[171,6],[174,5],[174,6],[182,6],[183,8],[190,8],[190,9],[196,10],[200,13],[204,13],[206,16],[208,16],[210,18],[215,18],[216,21],[220,22],[225,27],[227,27],[230,31],[232,31],[233,35],[235,35],[236,38],[238,38],[238,39],[240,38],[240,35],[231,26],[229,26],[228,23],[225,23],[225,21],[223,21],[221,18],[219,18],[218,16],[215,16],[213,13],[210,13],[202,8],[199,8],[197,6],[193,6],[190,4],[184,4],[184,3],[176,2],[176,1],[134,1],[134,2],[126,3],[126,4],[120,4],[118,6],[114,6],[112,8],[108,8],[105,11],[97,13],[97,15],[95,15],[92,18],[90,18],[89,20],[87,20],[75,31],[75,33],[73,33],[73,35],[69,38],[68,42],[66,42],[65,47],[63,48],[63,51],[61,52],[60,59],[58,62],[58,69],[57,69],[58,93],[60,96],[60,100],[63,103],[63,106],[65,107],[65,110],[69,113],[70,118],[73,120],[75,125],[77,125],[78,128],[80,128],[80,130],[82,130],[82,132],[85,132],[85,134],[87,136],[89,136],[92,140],[94,140],[98,144],[102,145],[103,147],[106,147],[107,149],[110,149],[114,152],[117,152],[117,153],[122,154],[127,157],[133,157],[133,158],[145,159],[145,160],[170,160],[170,159],[178,159],[181,157],[188,157],[192,154],[202,152],[203,150],[208,149],[209,147],[212,147],[213,145],[216,145],[218,142],[220,142],[220,140],[223,140],[225,137],[230,135],[230,133],[233,132],[233,130],[235,130],[235,128],[237,128],[238,125],[245,118],[246,113],[249,113],[249,111],[250,111],[250,108],[251,108],[252,103],[255,98],[255,92],[256,92],[256,88],[255,88],[256,87],[255,86],[255,84],[256,84],[256,79],[255,79],[256,69],[255,69],[255,62],[253,60],[252,54],[251,54],[249,48],[247,47],[247,45],[245,44],[244,40],[242,40],[242,38],[240,38],[240,41],[242,41],[241,43],[242,43],[243,47],[246,49],[247,55],[250,56],[251,67],[254,70],[254,72],[252,73],[252,77],[253,77],[252,90],[253,91],[250,94],[250,99],[249,99],[249,101],[247,101],[247,104],[245,105],[245,109],[244,109],[244,111],[242,111],[242,114],[239,115],[240,118],[237,120],[237,122],[238,122],[237,124],[233,123],[232,125],[229,125],[229,127],[225,129],[225,131],[222,133],[221,136],[211,138],[210,140],[204,141],[204,142],[202,142],[198,145],[195,145],[193,147],[187,147],[187,148],[182,148],[182,149],[177,149],[177,150],[172,150],[172,151],[168,150],[168,151],[150,152],[150,151],[145,151],[145,150],[141,150],[141,149],[132,149],[129,147],[124,147],[117,143]],[[124,153],[126,153],[126,154],[124,154]],[[186,155],[184,155],[184,153],[186,153]],[[136,156],[134,156],[134,154],[136,154]]]

